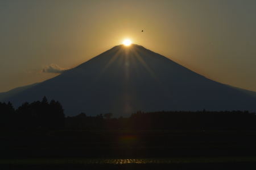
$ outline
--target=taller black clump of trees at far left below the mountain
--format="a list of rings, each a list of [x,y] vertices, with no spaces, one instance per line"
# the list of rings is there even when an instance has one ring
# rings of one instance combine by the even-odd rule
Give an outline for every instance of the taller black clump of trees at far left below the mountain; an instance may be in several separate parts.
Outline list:
[[[6,129],[59,129],[64,128],[65,115],[58,101],[25,102],[18,109],[12,103],[0,102],[0,127]]]

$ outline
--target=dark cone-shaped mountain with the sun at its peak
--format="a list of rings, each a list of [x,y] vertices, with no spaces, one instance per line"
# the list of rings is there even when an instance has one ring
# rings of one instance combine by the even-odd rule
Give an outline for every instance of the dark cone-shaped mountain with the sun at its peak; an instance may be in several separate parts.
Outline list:
[[[19,106],[47,96],[66,115],[138,110],[256,111],[256,93],[210,80],[140,45],[108,51],[19,93],[5,97]]]

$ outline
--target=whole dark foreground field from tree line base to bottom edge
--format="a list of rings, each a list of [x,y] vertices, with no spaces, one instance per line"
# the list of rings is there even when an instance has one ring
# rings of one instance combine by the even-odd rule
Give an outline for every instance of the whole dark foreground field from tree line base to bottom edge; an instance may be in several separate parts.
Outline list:
[[[255,131],[1,132],[1,169],[255,169]]]

